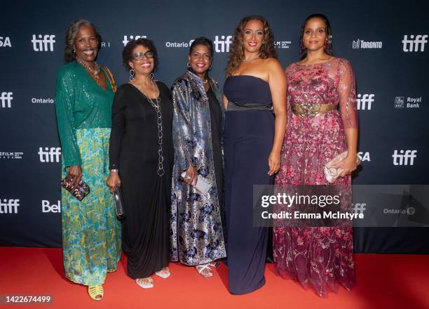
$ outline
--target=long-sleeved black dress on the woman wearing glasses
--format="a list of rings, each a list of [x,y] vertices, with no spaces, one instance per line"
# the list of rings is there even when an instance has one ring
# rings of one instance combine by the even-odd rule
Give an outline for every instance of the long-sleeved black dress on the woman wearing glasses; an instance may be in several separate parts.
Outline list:
[[[155,108],[131,84],[116,91],[112,107],[110,168],[119,169],[125,208],[122,248],[128,275],[149,277],[168,265],[172,164],[173,106],[165,84],[160,91],[163,126],[163,169],[158,176],[158,125]]]

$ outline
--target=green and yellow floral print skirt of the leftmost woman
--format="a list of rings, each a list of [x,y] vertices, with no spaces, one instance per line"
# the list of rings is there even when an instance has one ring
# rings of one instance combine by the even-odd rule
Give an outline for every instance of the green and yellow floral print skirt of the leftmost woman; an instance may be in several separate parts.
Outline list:
[[[121,223],[106,185],[109,128],[77,129],[82,179],[90,193],[80,202],[61,190],[62,252],[66,277],[85,285],[103,284],[121,258]],[[62,178],[67,175],[62,162]]]

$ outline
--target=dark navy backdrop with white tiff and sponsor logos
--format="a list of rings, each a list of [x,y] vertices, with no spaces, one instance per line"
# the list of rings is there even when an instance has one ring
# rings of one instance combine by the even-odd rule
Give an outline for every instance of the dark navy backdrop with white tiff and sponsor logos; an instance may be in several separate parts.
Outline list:
[[[0,245],[61,246],[61,147],[55,77],[64,37],[86,18],[102,34],[97,62],[118,84],[130,39],[154,40],[156,78],[169,86],[186,70],[189,42],[214,42],[212,76],[224,83],[233,31],[245,15],[263,15],[280,63],[298,60],[299,31],[311,13],[331,20],[334,54],[357,79],[362,169],[355,184],[427,184],[429,5],[425,1],[8,1],[0,18]],[[418,3],[420,2],[420,3]],[[357,210],[370,205],[358,197]],[[374,205],[372,205],[374,206]],[[388,203],[376,205],[386,216]],[[387,211],[386,211],[387,209]],[[400,211],[408,211],[402,209]],[[355,228],[356,252],[429,252],[427,228]]]

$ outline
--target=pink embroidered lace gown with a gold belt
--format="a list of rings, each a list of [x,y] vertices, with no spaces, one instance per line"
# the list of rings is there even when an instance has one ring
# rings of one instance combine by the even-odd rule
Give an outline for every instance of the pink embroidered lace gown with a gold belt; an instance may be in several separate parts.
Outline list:
[[[348,60],[297,65],[286,69],[287,131],[281,168],[275,183],[280,185],[324,185],[323,165],[347,150],[344,129],[357,128],[355,78]],[[293,104],[338,104],[339,109],[316,117],[292,113]],[[334,185],[351,185],[350,175]],[[355,282],[353,230],[347,228],[274,228],[275,266],[283,277],[301,282],[305,288],[327,297],[338,283],[351,289]]]

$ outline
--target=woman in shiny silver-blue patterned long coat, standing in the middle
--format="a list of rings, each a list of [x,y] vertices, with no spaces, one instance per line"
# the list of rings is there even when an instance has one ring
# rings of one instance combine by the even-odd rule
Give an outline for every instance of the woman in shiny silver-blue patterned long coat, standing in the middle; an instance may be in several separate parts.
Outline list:
[[[217,82],[207,74],[212,59],[212,41],[197,38],[189,51],[188,70],[172,86],[172,261],[196,266],[203,277],[212,277],[210,266],[226,256],[222,228],[224,111]],[[198,178],[210,185],[206,195],[194,187]]]

